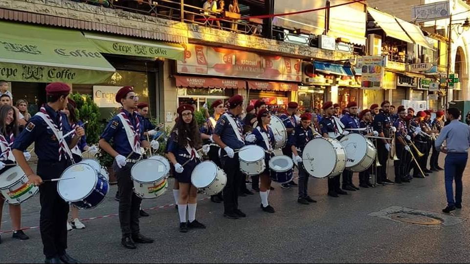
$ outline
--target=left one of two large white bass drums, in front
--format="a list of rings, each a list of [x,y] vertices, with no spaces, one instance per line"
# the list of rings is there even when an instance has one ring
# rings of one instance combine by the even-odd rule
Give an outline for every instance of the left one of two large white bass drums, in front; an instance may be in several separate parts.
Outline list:
[[[346,150],[335,139],[313,139],[302,152],[302,166],[314,178],[334,177],[346,167]]]

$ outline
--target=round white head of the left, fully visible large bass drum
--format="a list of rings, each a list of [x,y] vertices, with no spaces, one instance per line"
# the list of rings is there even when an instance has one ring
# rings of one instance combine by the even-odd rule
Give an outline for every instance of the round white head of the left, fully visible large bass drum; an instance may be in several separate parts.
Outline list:
[[[336,167],[336,151],[326,139],[308,142],[302,152],[302,162],[307,172],[315,178],[325,178]]]

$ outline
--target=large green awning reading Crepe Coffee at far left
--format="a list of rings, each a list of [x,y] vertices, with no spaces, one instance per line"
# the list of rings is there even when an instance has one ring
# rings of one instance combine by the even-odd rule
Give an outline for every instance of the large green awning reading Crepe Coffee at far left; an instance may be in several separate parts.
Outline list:
[[[0,21],[0,80],[92,84],[114,72],[79,31]]]

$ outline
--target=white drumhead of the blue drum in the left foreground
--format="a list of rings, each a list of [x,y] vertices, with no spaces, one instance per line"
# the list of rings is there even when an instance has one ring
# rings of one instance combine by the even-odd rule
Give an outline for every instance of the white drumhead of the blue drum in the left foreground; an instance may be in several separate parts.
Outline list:
[[[98,181],[95,169],[84,163],[69,166],[60,178],[75,178],[59,181],[57,184],[59,195],[67,202],[77,202],[86,198]]]

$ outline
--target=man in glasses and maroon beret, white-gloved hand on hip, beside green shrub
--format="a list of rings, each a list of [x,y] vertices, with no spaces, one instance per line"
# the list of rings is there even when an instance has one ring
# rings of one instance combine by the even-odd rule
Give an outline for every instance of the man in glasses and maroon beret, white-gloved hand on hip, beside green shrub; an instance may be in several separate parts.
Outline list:
[[[131,168],[141,158],[140,147],[150,144],[144,139],[142,116],[134,109],[139,98],[131,86],[125,86],[116,93],[116,102],[122,105],[121,112],[114,116],[106,126],[99,141],[100,147],[114,157],[112,168],[116,173],[119,192],[119,223],[121,224],[121,244],[135,249],[135,243],[153,243],[154,240],[143,236],[139,228],[139,211],[142,199],[134,191]],[[113,146],[109,142],[113,140]],[[158,142],[152,141],[152,148],[158,149]]]

